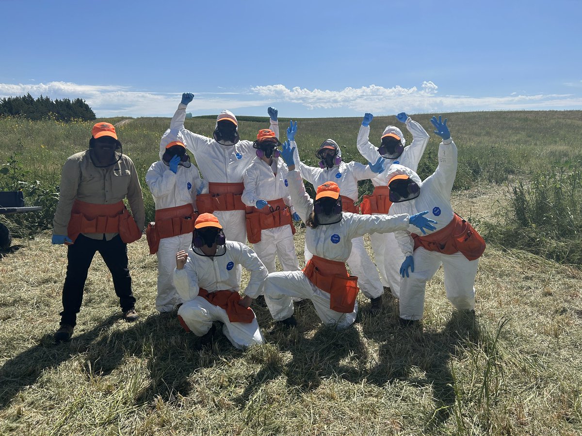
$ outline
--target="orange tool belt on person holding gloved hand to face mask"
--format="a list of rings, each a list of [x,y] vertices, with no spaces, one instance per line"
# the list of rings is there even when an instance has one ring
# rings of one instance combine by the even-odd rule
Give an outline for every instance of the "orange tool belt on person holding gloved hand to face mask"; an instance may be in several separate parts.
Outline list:
[[[148,224],[147,229],[145,229],[150,254],[158,252],[160,240],[192,233],[197,217],[198,212],[194,212],[191,203],[156,210],[155,222]]]

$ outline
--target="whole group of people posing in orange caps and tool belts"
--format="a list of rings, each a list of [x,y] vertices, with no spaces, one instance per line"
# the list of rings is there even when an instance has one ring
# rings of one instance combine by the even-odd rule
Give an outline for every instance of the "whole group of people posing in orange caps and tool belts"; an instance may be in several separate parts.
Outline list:
[[[268,109],[269,128],[258,131],[255,141],[240,140],[238,121],[228,110],[218,115],[208,138],[184,128],[193,97],[182,95],[162,135],[159,161],[147,172],[156,211],[145,233],[158,258],[156,309],[178,308],[180,324],[202,337],[201,344],[211,340],[216,321],[237,348],[264,342],[250,308],[260,297],[277,327],[295,326],[294,303],[311,301],[325,325],[343,329],[356,319],[359,290],[377,315],[389,288],[399,299],[400,323],[416,324],[423,316],[425,285],[440,265],[452,305],[474,310],[485,242],[450,204],[457,148],[446,119],[431,119],[442,142],[437,169],[423,181],[416,170],[429,135],[406,113],[397,118],[412,134],[410,145],[398,127],[387,126],[374,146],[373,116],[366,113],[357,148],[367,165],[343,162],[339,145],[328,139],[316,153],[319,166],[311,167],[299,155],[297,122],[290,122],[286,141],[279,141],[276,109]],[[368,178],[374,192],[355,205],[357,182]],[[315,199],[303,180],[316,188]],[[141,237],[144,215],[136,169],[115,127],[95,124],[89,149],[63,166],[52,242],[68,245],[68,267],[56,341],[73,333],[96,251],[111,271],[125,319],[139,317],[127,244]],[[306,224],[303,269],[293,241],[293,221],[299,220]],[[364,234],[371,236],[376,265],[364,248]],[[282,271],[276,271],[276,256]],[[250,272],[244,296],[242,267]]]

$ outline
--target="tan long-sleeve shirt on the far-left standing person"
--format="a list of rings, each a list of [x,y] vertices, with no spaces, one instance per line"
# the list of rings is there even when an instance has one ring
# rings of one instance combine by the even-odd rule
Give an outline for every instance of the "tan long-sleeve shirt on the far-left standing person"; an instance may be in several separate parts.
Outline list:
[[[67,159],[61,174],[61,191],[52,221],[54,235],[66,235],[75,199],[87,203],[112,205],[127,196],[137,227],[143,231],[145,210],[141,185],[132,159],[122,155],[119,162],[105,168],[93,165],[89,151],[76,153]],[[108,241],[117,233],[106,233]],[[87,233],[92,239],[103,239],[102,233]]]

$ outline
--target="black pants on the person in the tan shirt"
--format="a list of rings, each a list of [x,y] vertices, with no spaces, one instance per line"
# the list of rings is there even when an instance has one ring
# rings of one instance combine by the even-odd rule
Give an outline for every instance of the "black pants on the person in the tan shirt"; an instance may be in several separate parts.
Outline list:
[[[87,280],[87,273],[95,252],[99,252],[105,265],[111,271],[115,294],[119,297],[121,310],[133,309],[136,299],[132,294],[132,278],[127,268],[127,244],[119,235],[111,241],[94,240],[84,235],[79,235],[73,245],[68,246],[67,276],[63,286],[63,311],[61,312],[61,324],[74,326],[77,321],[77,313],[83,302],[83,288]]]

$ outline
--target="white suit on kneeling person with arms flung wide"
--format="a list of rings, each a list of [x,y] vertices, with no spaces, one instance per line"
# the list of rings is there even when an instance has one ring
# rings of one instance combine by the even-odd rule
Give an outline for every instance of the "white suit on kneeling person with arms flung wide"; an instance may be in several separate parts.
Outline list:
[[[298,170],[289,171],[287,180],[293,205],[301,219],[306,221],[313,210],[313,201],[305,191],[301,173]],[[346,262],[352,253],[354,238],[373,232],[405,231],[408,221],[408,214],[372,216],[343,212],[339,223],[317,228],[307,227],[305,241],[314,255]],[[311,283],[303,271],[269,274],[264,283],[263,294],[271,316],[277,321],[293,315],[293,298],[310,299],[321,321],[326,326],[335,326],[338,329],[349,327],[356,319],[358,310],[357,302],[352,313],[339,313],[330,309],[329,294]]]

